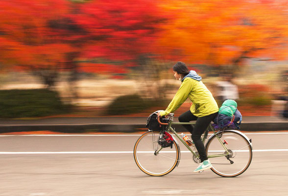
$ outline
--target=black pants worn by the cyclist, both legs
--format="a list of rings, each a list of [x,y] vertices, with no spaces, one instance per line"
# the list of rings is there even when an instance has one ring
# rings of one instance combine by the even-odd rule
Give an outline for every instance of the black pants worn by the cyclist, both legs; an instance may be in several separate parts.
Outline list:
[[[214,114],[210,114],[208,116],[204,116],[204,117],[196,117],[189,110],[181,114],[178,118],[179,122],[181,123],[188,123],[190,121],[196,121],[194,126],[192,126],[191,124],[183,124],[183,126],[192,134],[192,140],[200,155],[201,162],[208,159],[204,144],[201,140],[201,135],[207,129],[209,123],[211,123],[211,121],[216,117],[217,113],[218,112]]]

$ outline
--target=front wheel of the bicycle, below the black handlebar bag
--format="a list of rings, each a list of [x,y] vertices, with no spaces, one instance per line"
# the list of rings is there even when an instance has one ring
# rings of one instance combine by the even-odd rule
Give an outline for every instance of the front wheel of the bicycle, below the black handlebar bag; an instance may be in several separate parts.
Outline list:
[[[171,172],[180,158],[180,149],[173,141],[172,148],[158,145],[160,131],[144,133],[134,146],[134,159],[140,170],[148,175],[162,176]]]

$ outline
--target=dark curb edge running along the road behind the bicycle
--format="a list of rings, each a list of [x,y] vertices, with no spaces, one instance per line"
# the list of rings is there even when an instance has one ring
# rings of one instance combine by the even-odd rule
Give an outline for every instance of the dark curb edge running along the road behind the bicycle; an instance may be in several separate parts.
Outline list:
[[[180,124],[173,126],[177,131],[184,130]],[[22,131],[55,131],[63,133],[84,132],[137,132],[146,131],[145,124],[19,124],[0,125],[0,133],[22,132]],[[240,131],[280,131],[288,130],[288,122],[257,122],[241,123]]]

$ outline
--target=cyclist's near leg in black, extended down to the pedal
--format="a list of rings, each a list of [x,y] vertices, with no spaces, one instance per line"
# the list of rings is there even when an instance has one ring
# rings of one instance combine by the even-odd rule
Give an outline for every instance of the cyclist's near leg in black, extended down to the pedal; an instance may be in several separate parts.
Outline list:
[[[201,162],[207,160],[207,154],[205,151],[204,144],[201,140],[201,135],[204,133],[204,131],[207,129],[209,123],[216,117],[217,112],[214,114],[210,114],[208,116],[204,117],[198,117],[195,126],[193,128],[192,132],[192,140],[195,144],[195,147],[199,153]]]

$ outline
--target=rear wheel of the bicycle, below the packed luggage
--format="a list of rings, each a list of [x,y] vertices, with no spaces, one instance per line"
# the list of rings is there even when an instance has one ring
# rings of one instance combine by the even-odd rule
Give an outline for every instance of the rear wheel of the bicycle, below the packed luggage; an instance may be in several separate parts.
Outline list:
[[[252,160],[250,142],[240,133],[227,130],[216,133],[206,144],[206,152],[211,161],[211,170],[223,177],[235,177],[245,172]],[[225,152],[222,144],[228,149]],[[218,156],[226,153],[225,156]]]

